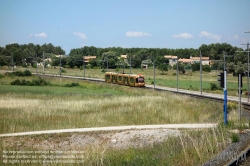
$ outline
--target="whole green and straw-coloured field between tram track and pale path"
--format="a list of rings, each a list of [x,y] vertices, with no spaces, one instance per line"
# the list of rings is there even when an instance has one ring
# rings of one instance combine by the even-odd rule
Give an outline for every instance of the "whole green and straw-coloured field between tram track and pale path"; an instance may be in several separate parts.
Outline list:
[[[17,78],[36,77],[1,79],[0,133],[222,119],[220,104],[208,100],[74,79],[45,78],[47,86],[8,84]],[[65,86],[72,82],[79,86]]]

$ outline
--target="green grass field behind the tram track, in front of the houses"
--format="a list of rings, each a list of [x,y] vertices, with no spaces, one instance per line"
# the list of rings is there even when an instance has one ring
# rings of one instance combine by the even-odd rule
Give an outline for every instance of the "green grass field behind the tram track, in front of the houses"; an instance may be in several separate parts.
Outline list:
[[[18,67],[15,70],[26,70],[29,69],[32,72],[36,72],[35,68],[22,68]],[[10,70],[7,67],[0,68],[2,71]],[[64,69],[65,73],[62,73],[62,75],[71,75],[71,76],[83,76],[84,70],[80,69]],[[91,78],[102,78],[104,79],[104,73],[101,72],[102,69],[85,69],[85,77],[91,77]],[[123,69],[116,70],[116,69],[109,69],[109,71],[114,72],[123,72]],[[39,73],[43,73],[43,68],[38,69]],[[130,69],[125,69],[125,73],[130,73]],[[141,73],[145,75],[145,81],[146,84],[153,84],[154,83],[154,71],[152,68],[149,69],[132,69],[132,73]],[[217,91],[211,91],[211,83],[214,83],[218,85],[219,83],[217,79],[219,78],[217,75],[220,71],[212,71],[210,73],[203,72],[202,73],[202,91],[204,92],[210,92],[210,93],[221,93],[223,94],[223,89],[217,90]],[[59,68],[45,68],[45,72],[47,74],[59,74]],[[159,70],[155,70],[155,84],[159,86],[166,86],[171,88],[177,88],[177,76],[175,70],[170,70],[168,72],[165,72],[164,75],[162,75],[162,72]],[[178,86],[180,89],[187,89],[187,90],[194,90],[194,91],[200,91],[201,83],[200,83],[200,72],[192,72],[187,70],[185,74],[178,74]],[[247,78],[243,77],[243,92],[247,92]],[[232,74],[229,74],[227,77],[227,91],[228,95],[230,96],[236,96],[238,93],[238,78],[235,76],[233,77]],[[246,95],[243,95],[242,97],[246,97]]]

